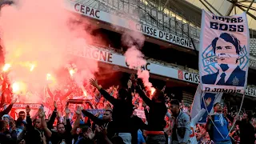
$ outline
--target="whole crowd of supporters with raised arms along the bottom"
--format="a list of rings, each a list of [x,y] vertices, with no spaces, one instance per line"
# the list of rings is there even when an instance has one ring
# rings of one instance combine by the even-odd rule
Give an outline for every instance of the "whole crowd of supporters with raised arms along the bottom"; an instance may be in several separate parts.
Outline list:
[[[64,92],[59,89],[52,92],[47,86],[49,96],[38,112],[30,115],[31,108],[26,106],[17,118],[10,114],[17,97],[9,97],[7,89],[2,91],[0,143],[256,143],[255,114],[234,117],[236,112],[228,112],[225,106],[222,108],[216,103],[215,113],[223,114],[223,125],[232,128],[222,141],[214,134],[213,125],[218,127],[214,117],[209,116],[204,125],[197,124],[206,111],[200,111],[191,119],[190,106],[170,99],[164,94],[165,87],[142,90],[134,75],[126,88],[111,86],[104,90],[94,79],[84,86],[84,90],[72,84],[66,88]],[[66,105],[67,99],[75,98],[89,101]],[[45,107],[50,108],[50,114],[46,114]],[[92,114],[91,110],[104,112]]]

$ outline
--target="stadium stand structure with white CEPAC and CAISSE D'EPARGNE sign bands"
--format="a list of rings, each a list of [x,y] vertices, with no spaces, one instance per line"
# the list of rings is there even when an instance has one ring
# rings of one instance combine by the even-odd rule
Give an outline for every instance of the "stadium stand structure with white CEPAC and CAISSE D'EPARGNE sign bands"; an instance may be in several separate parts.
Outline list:
[[[254,7],[255,6],[255,7]],[[256,3],[248,0],[66,0],[66,9],[81,14],[79,22],[87,22],[92,34],[104,42],[87,46],[82,58],[99,61],[99,78],[112,78],[136,73],[128,69],[122,46],[122,34],[137,31],[145,36],[142,53],[150,71],[150,82],[174,98],[193,102],[198,86],[198,44],[202,9],[218,15],[247,11],[250,26],[250,69],[246,89],[245,110],[253,110],[256,102]],[[74,50],[75,51],[75,50]],[[113,82],[113,81],[112,81]],[[242,94],[224,94],[223,101],[240,106]]]

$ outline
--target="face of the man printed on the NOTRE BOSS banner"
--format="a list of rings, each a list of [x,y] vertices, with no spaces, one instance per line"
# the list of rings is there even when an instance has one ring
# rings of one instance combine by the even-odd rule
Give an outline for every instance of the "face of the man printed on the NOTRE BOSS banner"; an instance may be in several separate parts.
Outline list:
[[[222,38],[218,38],[215,54],[218,64],[236,64],[238,59],[234,45]]]

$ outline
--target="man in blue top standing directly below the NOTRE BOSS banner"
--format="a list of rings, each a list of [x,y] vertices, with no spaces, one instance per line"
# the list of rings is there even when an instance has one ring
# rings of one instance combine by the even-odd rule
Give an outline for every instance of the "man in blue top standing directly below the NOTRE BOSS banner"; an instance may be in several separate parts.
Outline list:
[[[219,102],[214,104],[214,115],[207,119],[206,131],[215,144],[232,144],[229,136],[229,122],[225,114],[222,114],[222,106]]]

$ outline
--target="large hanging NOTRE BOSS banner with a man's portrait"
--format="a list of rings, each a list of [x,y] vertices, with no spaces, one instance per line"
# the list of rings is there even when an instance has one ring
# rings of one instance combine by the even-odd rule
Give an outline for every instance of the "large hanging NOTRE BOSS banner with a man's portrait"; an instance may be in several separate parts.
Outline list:
[[[220,17],[202,10],[199,48],[201,90],[243,93],[250,57],[246,13]]]

